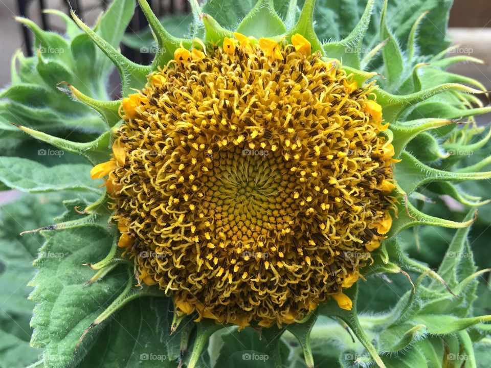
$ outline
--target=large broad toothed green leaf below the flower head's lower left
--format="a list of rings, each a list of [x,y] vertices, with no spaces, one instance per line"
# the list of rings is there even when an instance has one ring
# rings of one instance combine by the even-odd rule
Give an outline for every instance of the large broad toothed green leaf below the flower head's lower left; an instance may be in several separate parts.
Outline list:
[[[99,325],[81,340],[82,333],[121,292],[127,272],[116,269],[103,282],[84,287],[94,271],[84,263],[95,263],[109,251],[112,237],[100,226],[82,226],[44,234],[36,264],[38,273],[31,300],[38,304],[31,324],[32,344],[44,348],[44,362],[57,368],[75,367],[101,332]]]

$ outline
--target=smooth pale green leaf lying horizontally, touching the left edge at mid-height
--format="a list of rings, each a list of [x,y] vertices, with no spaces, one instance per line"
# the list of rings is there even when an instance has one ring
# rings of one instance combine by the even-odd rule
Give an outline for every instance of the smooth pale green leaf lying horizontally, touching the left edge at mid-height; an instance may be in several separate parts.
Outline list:
[[[40,154],[62,155],[63,151],[47,150]],[[47,167],[19,157],[0,157],[0,181],[12,189],[24,192],[54,192],[80,190],[101,193],[97,186],[102,180],[92,180],[90,165],[62,164]]]

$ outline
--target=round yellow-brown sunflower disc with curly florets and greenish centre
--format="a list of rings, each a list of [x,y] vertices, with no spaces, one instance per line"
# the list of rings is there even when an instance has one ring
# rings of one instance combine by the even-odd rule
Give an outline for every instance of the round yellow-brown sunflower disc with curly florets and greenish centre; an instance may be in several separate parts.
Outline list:
[[[123,100],[107,176],[139,280],[219,323],[302,319],[358,280],[385,238],[394,149],[372,84],[301,35],[235,34]],[[110,189],[110,190],[109,190]]]

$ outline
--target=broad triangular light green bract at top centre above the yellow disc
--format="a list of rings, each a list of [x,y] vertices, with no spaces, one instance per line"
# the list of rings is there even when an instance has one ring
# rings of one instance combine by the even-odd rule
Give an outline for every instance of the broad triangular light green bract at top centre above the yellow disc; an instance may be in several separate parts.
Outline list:
[[[237,27],[245,36],[273,37],[286,32],[285,25],[275,11],[273,0],[259,0]]]

